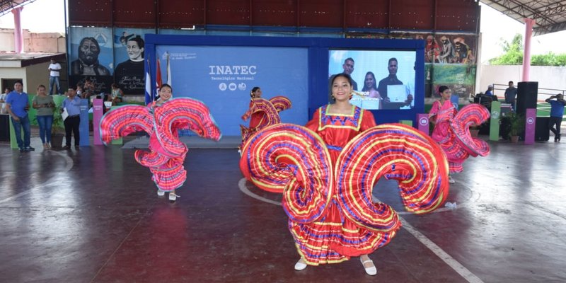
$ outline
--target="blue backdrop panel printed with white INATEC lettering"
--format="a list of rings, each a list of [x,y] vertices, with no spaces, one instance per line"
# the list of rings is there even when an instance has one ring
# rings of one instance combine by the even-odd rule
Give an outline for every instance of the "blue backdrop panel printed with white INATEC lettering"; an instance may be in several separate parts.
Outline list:
[[[293,105],[280,112],[283,122],[308,121],[308,49],[301,47],[222,47],[157,45],[163,81],[169,78],[173,98],[202,100],[225,136],[239,136],[240,117],[248,110],[250,91],[262,98],[285,96]]]

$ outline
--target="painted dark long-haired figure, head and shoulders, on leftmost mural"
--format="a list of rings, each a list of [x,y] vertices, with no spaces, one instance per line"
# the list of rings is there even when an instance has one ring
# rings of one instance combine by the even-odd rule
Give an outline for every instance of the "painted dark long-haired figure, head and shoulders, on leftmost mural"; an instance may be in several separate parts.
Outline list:
[[[71,75],[110,76],[110,71],[100,65],[100,45],[94,37],[84,37],[79,43],[79,59],[71,62]]]

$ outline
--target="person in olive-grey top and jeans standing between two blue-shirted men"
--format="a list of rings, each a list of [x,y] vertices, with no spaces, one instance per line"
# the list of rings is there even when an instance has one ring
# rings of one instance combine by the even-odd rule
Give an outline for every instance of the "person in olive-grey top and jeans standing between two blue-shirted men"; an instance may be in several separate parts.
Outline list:
[[[33,98],[32,107],[37,109],[37,124],[40,125],[40,138],[43,149],[50,149],[55,103],[52,96],[47,96],[45,86],[42,84],[37,86],[37,96]]]

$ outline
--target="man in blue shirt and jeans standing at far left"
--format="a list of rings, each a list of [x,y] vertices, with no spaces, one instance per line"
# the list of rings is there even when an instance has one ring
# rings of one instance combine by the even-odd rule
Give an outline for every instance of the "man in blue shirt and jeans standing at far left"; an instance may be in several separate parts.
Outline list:
[[[28,109],[30,108],[28,93],[23,92],[21,82],[13,84],[13,91],[6,96],[6,111],[12,117],[12,125],[16,132],[16,141],[20,152],[34,151],[30,146],[30,118]],[[21,130],[23,129],[23,141]]]

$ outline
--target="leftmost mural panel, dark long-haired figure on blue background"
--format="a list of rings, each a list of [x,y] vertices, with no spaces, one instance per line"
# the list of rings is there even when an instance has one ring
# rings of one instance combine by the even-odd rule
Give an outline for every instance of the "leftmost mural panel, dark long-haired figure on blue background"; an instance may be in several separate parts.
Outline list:
[[[114,71],[111,28],[69,27],[69,86],[84,86],[88,79],[93,93],[110,91]]]

